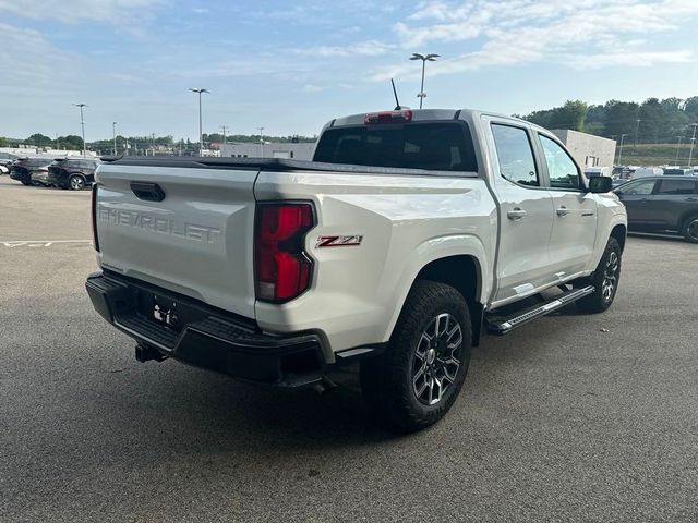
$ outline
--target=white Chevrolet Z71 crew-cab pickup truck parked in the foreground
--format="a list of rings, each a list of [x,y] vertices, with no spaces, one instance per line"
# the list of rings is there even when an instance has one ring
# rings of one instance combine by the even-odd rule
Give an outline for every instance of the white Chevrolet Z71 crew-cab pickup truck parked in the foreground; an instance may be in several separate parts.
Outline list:
[[[338,118],[313,161],[121,158],[96,180],[86,287],[140,361],[300,387],[360,358],[405,430],[450,408],[481,332],[606,309],[627,227],[553,134],[472,110]]]

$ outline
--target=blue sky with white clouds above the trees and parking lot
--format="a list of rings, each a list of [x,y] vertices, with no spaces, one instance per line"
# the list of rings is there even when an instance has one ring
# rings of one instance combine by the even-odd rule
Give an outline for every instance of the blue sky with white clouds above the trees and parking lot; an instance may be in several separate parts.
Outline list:
[[[0,136],[312,136],[400,104],[698,95],[698,0],[0,0]]]

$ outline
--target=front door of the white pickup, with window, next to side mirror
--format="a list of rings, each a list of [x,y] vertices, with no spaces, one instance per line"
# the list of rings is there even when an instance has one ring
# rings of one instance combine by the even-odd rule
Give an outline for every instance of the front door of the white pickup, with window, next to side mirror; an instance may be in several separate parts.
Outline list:
[[[554,209],[550,270],[562,280],[589,265],[597,242],[597,196],[587,192],[569,153],[554,139],[537,135]]]

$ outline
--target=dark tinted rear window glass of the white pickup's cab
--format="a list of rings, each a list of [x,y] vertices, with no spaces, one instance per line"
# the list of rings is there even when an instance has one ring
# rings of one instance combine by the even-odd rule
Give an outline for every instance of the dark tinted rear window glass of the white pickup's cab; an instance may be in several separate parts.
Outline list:
[[[398,169],[478,170],[470,131],[460,122],[328,129],[313,159]]]

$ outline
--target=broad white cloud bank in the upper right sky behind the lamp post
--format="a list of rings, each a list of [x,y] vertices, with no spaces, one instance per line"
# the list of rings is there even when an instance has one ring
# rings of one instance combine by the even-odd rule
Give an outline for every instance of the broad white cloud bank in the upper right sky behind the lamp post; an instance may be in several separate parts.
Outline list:
[[[410,51],[447,54],[440,45],[453,49],[461,42],[465,52],[431,65],[431,75],[535,62],[574,69],[645,66],[693,60],[683,35],[677,49],[658,50],[645,39],[676,31],[695,14],[698,0],[435,0],[419,4],[394,31]],[[376,70],[371,80],[416,74],[416,68],[401,63]]]

